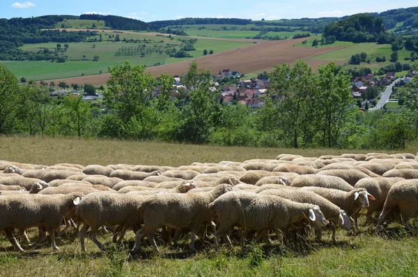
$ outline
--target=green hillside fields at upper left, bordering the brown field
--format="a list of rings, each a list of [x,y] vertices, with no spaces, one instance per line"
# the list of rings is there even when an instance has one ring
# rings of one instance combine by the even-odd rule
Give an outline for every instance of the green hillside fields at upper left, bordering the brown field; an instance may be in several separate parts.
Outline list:
[[[27,80],[50,80],[63,77],[77,77],[82,74],[95,75],[99,74],[100,70],[102,70],[102,73],[107,73],[109,66],[114,66],[125,60],[130,61],[134,65],[143,64],[148,67],[155,66],[156,63],[165,64],[183,60],[169,58],[169,56],[164,52],[162,52],[162,54],[154,52],[152,54],[146,54],[144,57],[141,57],[140,55],[115,56],[115,53],[121,47],[137,47],[138,45],[146,45],[146,47],[162,47],[162,50],[164,50],[164,47],[167,43],[169,43],[171,45],[178,45],[178,48],[180,48],[183,43],[176,39],[170,40],[166,36],[146,36],[141,35],[141,33],[111,32],[101,34],[103,40],[102,42],[68,43],[69,47],[65,52],[65,55],[68,56],[68,60],[65,61],[65,63],[56,63],[51,61],[1,61],[1,64],[6,66],[19,78],[26,77]],[[124,43],[123,41],[114,43],[110,40],[108,41],[109,34],[113,36],[118,34],[121,40],[124,38],[127,40],[132,38],[134,40],[138,39],[141,41],[139,43]],[[99,35],[95,37],[99,38]],[[178,38],[187,39],[185,37]],[[147,43],[144,43],[144,40],[147,40]],[[199,39],[195,45],[196,50],[189,53],[192,54],[193,57],[201,57],[203,56],[204,49],[207,49],[208,51],[214,50],[214,52],[221,52],[236,47],[250,45],[251,43],[252,41],[245,43],[228,40]],[[93,47],[93,45],[95,45],[95,47]],[[26,51],[38,52],[38,50],[43,50],[45,48],[53,51],[55,47],[56,43],[39,43],[24,45],[21,48]],[[83,60],[83,55],[86,55],[86,60]],[[95,55],[100,57],[99,61],[92,61]]]

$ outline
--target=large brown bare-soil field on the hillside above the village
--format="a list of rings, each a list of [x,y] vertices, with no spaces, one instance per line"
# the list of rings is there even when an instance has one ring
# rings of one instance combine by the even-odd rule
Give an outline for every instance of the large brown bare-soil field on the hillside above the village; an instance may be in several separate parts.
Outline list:
[[[232,50],[218,52],[212,55],[196,58],[199,68],[210,70],[217,73],[219,70],[229,68],[240,73],[262,72],[269,70],[273,66],[282,63],[294,63],[299,59],[308,59],[318,54],[334,51],[343,48],[336,47],[295,47],[293,45],[302,42],[306,38],[296,40],[264,40],[261,43],[254,43],[245,47],[239,47]],[[169,75],[181,75],[187,73],[192,59],[171,63],[162,66],[153,66],[147,68],[147,71],[157,76],[167,72]],[[329,61],[307,61],[311,66],[317,68],[319,64]],[[105,84],[109,74],[91,75],[83,77],[72,77],[66,79],[53,80],[54,82],[67,82],[67,84],[93,84],[99,86]],[[52,80],[46,80],[50,82]]]

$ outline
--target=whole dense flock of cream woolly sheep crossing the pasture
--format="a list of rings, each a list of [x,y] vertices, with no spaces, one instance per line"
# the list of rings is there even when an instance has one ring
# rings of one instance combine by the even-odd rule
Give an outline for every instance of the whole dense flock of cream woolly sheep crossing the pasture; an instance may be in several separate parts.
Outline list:
[[[412,154],[281,154],[181,167],[0,161],[0,170],[0,231],[21,251],[22,241],[33,247],[47,234],[58,250],[56,234],[69,228],[79,230],[83,251],[86,235],[104,249],[100,228],[111,230],[117,244],[133,230],[134,252],[145,238],[158,251],[156,232],[165,244],[191,232],[192,253],[196,237],[213,239],[216,250],[221,239],[232,246],[235,237],[284,244],[289,230],[304,236],[308,225],[317,240],[329,227],[335,241],[338,227],[357,234],[363,207],[377,233],[394,220],[412,230],[409,220],[418,211],[418,156]],[[33,243],[26,235],[31,227],[38,228]]]

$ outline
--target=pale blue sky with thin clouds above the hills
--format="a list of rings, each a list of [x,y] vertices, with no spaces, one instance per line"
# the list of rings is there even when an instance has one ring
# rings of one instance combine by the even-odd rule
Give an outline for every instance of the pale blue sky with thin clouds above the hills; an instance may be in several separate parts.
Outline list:
[[[114,1],[114,0],[0,0],[0,18],[39,15],[81,15],[98,13],[120,15],[145,22],[182,17],[238,17],[277,20],[301,17],[341,17],[362,12],[382,12],[418,6],[416,0],[318,0],[318,1]]]

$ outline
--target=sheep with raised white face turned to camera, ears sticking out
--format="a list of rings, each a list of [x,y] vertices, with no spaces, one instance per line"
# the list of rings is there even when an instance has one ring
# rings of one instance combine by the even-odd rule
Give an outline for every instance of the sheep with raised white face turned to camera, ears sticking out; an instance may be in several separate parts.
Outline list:
[[[346,192],[342,190],[336,190],[332,188],[318,188],[318,187],[304,187],[302,190],[310,190],[346,211],[348,216],[354,216],[359,212],[362,207],[369,207],[369,199],[375,200],[375,197],[367,192],[365,188],[354,188],[353,190]],[[351,218],[353,236],[357,235],[357,228],[355,227],[354,220]]]

